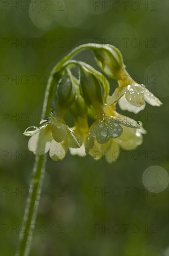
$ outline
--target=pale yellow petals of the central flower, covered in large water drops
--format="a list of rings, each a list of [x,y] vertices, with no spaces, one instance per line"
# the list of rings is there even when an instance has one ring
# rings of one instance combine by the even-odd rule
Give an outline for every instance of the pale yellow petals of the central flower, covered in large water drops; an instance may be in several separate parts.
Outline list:
[[[110,108],[109,108],[110,110]],[[143,141],[146,131],[141,122],[113,111],[89,128],[86,153],[95,160],[103,158],[111,163],[118,159],[120,148],[133,150]]]

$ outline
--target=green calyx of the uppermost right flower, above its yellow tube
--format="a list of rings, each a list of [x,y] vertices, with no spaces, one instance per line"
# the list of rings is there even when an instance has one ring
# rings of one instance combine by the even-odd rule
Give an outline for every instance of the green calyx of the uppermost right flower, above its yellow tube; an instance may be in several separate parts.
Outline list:
[[[91,47],[99,67],[108,76],[115,77],[120,74],[120,70],[125,67],[123,57],[119,49],[113,45],[97,45]]]

